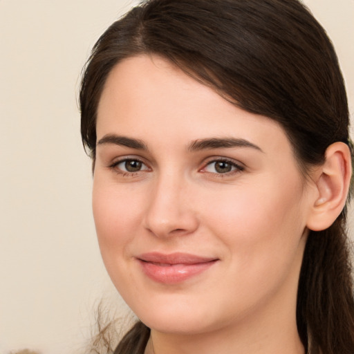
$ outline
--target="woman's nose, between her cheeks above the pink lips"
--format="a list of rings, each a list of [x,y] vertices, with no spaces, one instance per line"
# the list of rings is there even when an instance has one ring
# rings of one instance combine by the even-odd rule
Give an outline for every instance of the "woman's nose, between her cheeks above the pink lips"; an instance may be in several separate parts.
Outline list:
[[[151,188],[145,228],[158,237],[192,234],[198,228],[190,186],[183,179],[166,176]]]

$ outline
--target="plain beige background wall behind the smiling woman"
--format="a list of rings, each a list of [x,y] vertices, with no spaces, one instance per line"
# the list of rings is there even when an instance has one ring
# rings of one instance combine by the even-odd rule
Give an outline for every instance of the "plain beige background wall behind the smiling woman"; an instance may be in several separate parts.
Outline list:
[[[0,353],[80,353],[101,298],[80,141],[81,68],[129,0],[0,0]],[[307,0],[333,39],[354,112],[354,0]]]

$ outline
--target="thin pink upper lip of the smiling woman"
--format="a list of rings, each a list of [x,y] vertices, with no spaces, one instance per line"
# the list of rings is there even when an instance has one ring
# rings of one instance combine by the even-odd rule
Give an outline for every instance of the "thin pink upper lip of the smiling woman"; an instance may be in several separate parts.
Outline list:
[[[170,254],[163,254],[160,252],[149,252],[140,254],[137,259],[140,261],[151,263],[163,263],[163,264],[197,264],[216,261],[215,257],[203,257],[196,254],[189,254],[183,252],[174,252]]]

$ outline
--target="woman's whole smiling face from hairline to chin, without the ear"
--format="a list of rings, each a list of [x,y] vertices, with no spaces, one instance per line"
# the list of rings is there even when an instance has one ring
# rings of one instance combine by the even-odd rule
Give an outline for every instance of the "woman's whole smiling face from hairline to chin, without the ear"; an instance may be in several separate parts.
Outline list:
[[[97,113],[100,250],[142,322],[295,320],[311,187],[279,124],[156,56],[115,66]]]

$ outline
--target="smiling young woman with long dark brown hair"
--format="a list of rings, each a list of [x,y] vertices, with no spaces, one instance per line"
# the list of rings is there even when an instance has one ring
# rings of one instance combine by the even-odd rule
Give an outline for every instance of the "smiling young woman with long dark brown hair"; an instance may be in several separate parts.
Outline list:
[[[354,353],[348,106],[295,0],[150,0],[80,93],[115,353]]]

